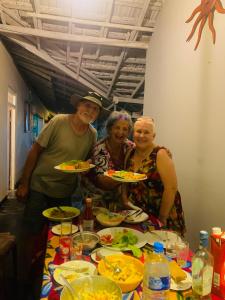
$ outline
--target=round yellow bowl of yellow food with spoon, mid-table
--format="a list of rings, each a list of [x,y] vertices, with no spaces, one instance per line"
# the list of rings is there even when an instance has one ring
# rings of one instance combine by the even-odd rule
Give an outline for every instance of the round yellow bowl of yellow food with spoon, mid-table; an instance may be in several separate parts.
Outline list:
[[[143,280],[144,265],[140,260],[128,255],[109,255],[106,258],[107,262],[101,260],[98,264],[99,274],[116,282],[123,293],[130,292]],[[118,266],[121,269],[120,273],[114,273],[111,266]]]

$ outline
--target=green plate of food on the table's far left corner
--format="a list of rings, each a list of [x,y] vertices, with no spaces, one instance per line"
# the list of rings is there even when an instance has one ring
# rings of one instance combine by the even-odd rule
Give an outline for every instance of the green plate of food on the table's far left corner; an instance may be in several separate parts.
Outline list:
[[[60,208],[65,211],[64,216],[62,213],[60,213],[57,207],[48,208],[44,210],[42,214],[44,217],[48,218],[51,221],[71,220],[79,216],[80,214],[80,210],[72,206],[60,206]],[[68,214],[68,216],[66,214]]]

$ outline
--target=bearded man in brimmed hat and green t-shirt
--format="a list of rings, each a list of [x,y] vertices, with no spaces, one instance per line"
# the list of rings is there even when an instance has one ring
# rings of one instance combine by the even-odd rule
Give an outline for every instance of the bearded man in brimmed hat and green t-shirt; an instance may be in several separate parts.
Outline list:
[[[54,167],[69,160],[88,159],[96,142],[96,130],[91,123],[104,110],[101,97],[96,93],[82,99],[73,95],[71,102],[75,112],[53,117],[32,145],[17,189],[17,198],[26,200],[21,239],[26,241],[22,251],[27,279],[34,241],[45,224],[42,212],[49,207],[71,205],[70,197],[76,188],[76,174]]]

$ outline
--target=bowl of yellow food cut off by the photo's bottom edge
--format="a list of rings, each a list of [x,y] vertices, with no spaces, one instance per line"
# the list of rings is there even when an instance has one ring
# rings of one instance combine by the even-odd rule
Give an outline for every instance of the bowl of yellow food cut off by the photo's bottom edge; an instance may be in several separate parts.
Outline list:
[[[104,299],[107,300],[121,300],[122,292],[120,287],[113,282],[112,280],[102,277],[102,276],[87,276],[78,278],[70,283],[74,290],[79,295],[79,300],[86,300],[87,294],[89,298],[92,297],[93,300]],[[70,293],[66,287],[63,288],[60,295],[60,300],[69,300],[71,299]],[[74,300],[77,300],[78,297],[74,295]]]

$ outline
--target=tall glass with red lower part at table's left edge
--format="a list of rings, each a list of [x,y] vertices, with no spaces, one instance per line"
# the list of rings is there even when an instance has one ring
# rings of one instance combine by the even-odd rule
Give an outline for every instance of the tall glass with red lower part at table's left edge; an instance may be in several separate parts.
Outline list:
[[[70,259],[72,239],[72,221],[62,221],[60,224],[59,251],[64,261]]]

